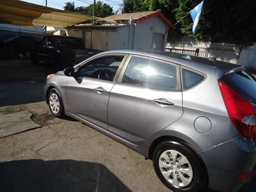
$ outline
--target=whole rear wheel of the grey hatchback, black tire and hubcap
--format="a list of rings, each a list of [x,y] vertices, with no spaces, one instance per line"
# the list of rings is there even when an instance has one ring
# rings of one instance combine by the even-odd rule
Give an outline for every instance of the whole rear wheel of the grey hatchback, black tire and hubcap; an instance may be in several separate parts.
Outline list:
[[[157,177],[172,191],[202,191],[207,188],[204,164],[184,142],[163,141],[157,145],[153,164]]]

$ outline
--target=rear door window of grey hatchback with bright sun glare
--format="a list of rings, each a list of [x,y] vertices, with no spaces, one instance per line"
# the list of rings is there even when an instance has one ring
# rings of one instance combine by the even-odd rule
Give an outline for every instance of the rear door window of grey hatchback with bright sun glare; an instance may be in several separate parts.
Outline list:
[[[132,57],[122,83],[157,90],[177,90],[177,67],[159,61]]]

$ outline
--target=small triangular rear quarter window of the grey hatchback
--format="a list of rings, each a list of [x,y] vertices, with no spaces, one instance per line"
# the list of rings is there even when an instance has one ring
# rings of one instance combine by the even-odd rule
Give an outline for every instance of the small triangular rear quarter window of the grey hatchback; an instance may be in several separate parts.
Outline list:
[[[201,74],[182,68],[182,83],[184,90],[188,90],[193,86],[196,86],[197,84],[204,81],[204,79],[205,77]]]

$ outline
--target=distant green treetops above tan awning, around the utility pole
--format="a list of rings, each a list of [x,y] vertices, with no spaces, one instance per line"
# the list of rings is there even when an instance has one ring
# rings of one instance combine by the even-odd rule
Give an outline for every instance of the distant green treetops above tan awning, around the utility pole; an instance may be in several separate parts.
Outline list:
[[[64,10],[70,12],[82,13],[84,15],[93,15],[93,4],[89,6],[79,6],[75,7],[74,2],[65,3]],[[113,15],[113,8],[106,3],[102,3],[102,1],[96,2],[95,16],[96,17],[108,17],[109,15]]]

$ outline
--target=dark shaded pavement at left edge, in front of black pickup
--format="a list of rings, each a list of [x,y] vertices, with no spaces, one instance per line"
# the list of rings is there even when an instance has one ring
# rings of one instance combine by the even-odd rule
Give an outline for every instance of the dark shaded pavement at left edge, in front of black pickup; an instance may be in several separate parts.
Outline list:
[[[45,100],[44,85],[51,65],[33,65],[30,60],[0,60],[0,107]]]

